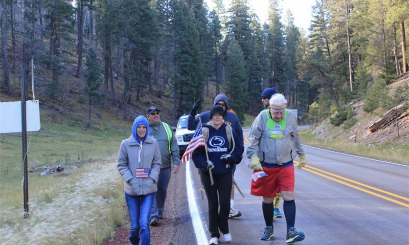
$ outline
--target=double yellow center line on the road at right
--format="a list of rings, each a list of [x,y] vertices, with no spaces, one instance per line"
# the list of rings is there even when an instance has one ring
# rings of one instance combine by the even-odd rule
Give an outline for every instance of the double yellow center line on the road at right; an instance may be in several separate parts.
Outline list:
[[[295,161],[294,161],[294,162],[295,162]],[[409,198],[407,198],[407,197],[400,196],[400,195],[396,195],[396,194],[391,193],[391,192],[388,192],[388,191],[384,191],[384,190],[381,190],[381,189],[378,189],[378,188],[375,188],[375,187],[371,187],[371,186],[368,186],[368,185],[365,185],[365,184],[362,184],[362,183],[359,183],[359,182],[356,182],[356,181],[353,181],[353,180],[349,180],[349,179],[347,179],[347,178],[345,178],[345,177],[342,177],[342,176],[339,176],[339,175],[336,175],[336,174],[333,174],[333,173],[330,173],[330,172],[327,172],[327,171],[324,171],[324,170],[321,170],[321,169],[317,169],[317,168],[314,168],[314,167],[311,167],[311,166],[308,166],[308,168],[306,168],[306,167],[307,167],[307,166],[305,166],[303,169],[306,170],[306,171],[308,171],[308,172],[315,173],[315,174],[317,174],[317,175],[320,175],[320,176],[322,176],[322,177],[325,177],[325,178],[327,178],[327,179],[329,179],[329,180],[332,180],[332,181],[335,181],[335,182],[337,182],[337,183],[340,183],[340,184],[349,186],[349,187],[351,187],[351,188],[360,190],[360,191],[362,191],[362,192],[365,192],[365,193],[368,193],[368,194],[377,196],[377,197],[379,197],[379,198],[385,199],[385,200],[390,201],[390,202],[392,202],[392,203],[399,204],[399,205],[401,205],[401,206],[404,206],[404,207],[406,207],[406,208],[409,208],[409,204],[402,203],[402,202],[397,201],[397,200],[395,200],[395,199],[392,199],[392,198],[390,198],[390,197],[387,197],[387,196],[384,196],[384,195],[380,195],[380,194],[378,194],[378,193],[375,193],[375,192],[373,192],[373,191],[369,191],[369,190],[360,188],[360,187],[358,187],[358,186],[354,186],[354,185],[349,184],[349,183],[344,182],[344,181],[337,180],[337,179],[335,179],[335,178],[333,178],[333,177],[327,176],[327,175],[325,175],[325,174],[322,174],[322,173],[319,173],[319,172],[316,172],[316,171],[320,171],[320,172],[326,173],[326,174],[328,174],[328,175],[335,176],[335,177],[337,177],[337,178],[339,178],[339,179],[342,179],[342,180],[345,180],[345,181],[349,181],[349,182],[354,183],[354,184],[356,184],[356,185],[360,185],[360,186],[363,186],[363,187],[367,187],[367,188],[369,188],[369,189],[376,190],[376,191],[379,191],[379,192],[381,192],[381,193],[388,194],[388,195],[391,195],[391,196],[394,196],[394,197],[403,199],[403,200],[405,200],[405,201],[409,201]],[[309,169],[309,168],[315,169],[316,171],[313,171],[313,170],[311,170],[311,169]]]

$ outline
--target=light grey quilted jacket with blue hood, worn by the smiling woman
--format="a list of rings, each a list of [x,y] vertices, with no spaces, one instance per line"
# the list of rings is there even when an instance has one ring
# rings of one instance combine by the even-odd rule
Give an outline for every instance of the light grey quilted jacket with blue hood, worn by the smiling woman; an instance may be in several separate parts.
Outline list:
[[[146,135],[137,136],[138,125],[146,126]],[[146,195],[157,191],[157,179],[161,171],[161,152],[157,141],[148,137],[149,124],[144,116],[135,119],[132,135],[123,140],[119,149],[117,168],[124,179],[124,191],[133,196]],[[137,168],[148,168],[147,178],[135,177]]]

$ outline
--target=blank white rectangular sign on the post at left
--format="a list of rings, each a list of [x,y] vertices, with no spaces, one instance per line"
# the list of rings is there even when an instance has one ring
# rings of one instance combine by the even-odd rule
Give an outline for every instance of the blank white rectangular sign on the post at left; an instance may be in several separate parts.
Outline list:
[[[40,125],[40,102],[26,101],[27,131],[38,131]],[[21,132],[21,101],[0,102],[0,133]]]

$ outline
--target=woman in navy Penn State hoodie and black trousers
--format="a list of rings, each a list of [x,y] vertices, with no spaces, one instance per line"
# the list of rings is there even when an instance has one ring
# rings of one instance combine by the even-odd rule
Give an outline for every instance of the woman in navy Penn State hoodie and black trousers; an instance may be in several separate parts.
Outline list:
[[[241,155],[241,145],[236,132],[226,129],[230,126],[224,123],[224,116],[225,113],[221,106],[216,105],[210,109],[211,121],[203,124],[206,147],[198,147],[192,154],[195,166],[200,169],[200,178],[208,199],[209,231],[211,233],[209,244],[218,244],[219,229],[223,233],[224,242],[232,240],[228,221],[230,192],[233,184],[232,167]],[[214,180],[213,185],[210,180],[210,168]]]

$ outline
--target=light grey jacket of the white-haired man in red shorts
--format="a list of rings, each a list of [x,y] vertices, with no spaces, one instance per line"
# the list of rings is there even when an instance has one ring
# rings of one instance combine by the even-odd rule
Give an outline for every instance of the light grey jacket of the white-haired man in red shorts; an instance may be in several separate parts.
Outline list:
[[[297,129],[296,115],[291,110],[286,110],[287,117],[283,119],[285,129],[282,139],[270,137],[265,110],[256,117],[248,132],[250,145],[247,147],[247,158],[259,157],[262,163],[282,165],[292,161],[297,154],[305,155]]]

